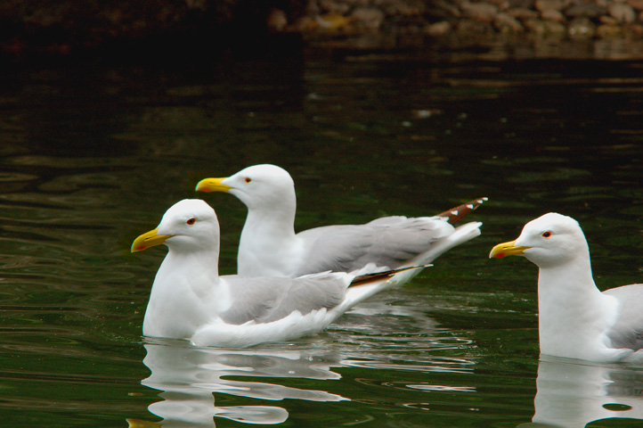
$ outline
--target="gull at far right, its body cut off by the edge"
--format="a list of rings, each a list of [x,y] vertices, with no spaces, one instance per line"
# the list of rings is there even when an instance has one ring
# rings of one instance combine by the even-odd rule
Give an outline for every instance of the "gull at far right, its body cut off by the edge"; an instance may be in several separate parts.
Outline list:
[[[600,292],[574,218],[550,212],[490,258],[521,255],[538,266],[541,353],[598,362],[643,360],[643,284]]]

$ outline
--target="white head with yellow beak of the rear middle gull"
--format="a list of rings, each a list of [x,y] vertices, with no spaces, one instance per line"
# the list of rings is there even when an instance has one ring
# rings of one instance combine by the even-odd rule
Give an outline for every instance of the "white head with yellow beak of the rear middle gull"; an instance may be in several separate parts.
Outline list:
[[[248,209],[274,207],[295,202],[295,184],[289,173],[275,165],[254,165],[241,169],[231,177],[204,178],[196,188],[199,192],[232,193]]]

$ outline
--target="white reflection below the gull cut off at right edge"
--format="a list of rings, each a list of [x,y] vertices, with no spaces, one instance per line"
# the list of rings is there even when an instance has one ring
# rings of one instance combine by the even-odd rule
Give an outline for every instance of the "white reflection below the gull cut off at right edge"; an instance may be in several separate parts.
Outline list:
[[[521,428],[584,428],[601,419],[643,419],[640,368],[543,356],[536,386],[532,423]]]

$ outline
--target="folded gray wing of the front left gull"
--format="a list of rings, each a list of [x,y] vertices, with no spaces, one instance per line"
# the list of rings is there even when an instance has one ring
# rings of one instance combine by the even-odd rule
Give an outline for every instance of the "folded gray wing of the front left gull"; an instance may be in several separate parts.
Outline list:
[[[226,276],[231,284],[232,308],[221,314],[228,324],[269,323],[298,310],[303,315],[331,309],[344,301],[349,281],[332,275],[306,278],[244,278]]]

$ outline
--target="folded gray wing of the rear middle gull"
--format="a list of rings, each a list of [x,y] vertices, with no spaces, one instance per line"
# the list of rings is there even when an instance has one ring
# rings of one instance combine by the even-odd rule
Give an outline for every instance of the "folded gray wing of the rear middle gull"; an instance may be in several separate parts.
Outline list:
[[[368,263],[399,268],[452,233],[453,226],[439,217],[383,217],[365,225],[315,227],[297,234],[307,248],[297,276],[327,270],[352,272]]]

